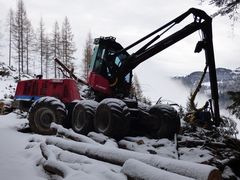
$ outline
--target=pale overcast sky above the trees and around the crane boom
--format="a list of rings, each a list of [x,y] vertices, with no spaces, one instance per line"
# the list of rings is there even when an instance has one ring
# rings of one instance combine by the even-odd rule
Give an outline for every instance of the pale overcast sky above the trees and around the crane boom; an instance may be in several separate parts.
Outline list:
[[[93,37],[114,36],[127,46],[157,29],[190,7],[201,8],[208,14],[216,10],[199,0],[24,0],[27,15],[34,28],[43,18],[48,32],[55,21],[62,24],[67,16],[72,25],[78,59],[88,32]],[[0,20],[5,23],[10,8],[16,9],[17,0],[0,0]],[[240,67],[240,23],[234,30],[228,18],[213,20],[213,41],[217,67]],[[0,27],[1,31],[2,28]],[[186,38],[167,50],[144,62],[136,69],[146,93],[152,93],[155,77],[184,75],[204,67],[204,54],[194,54],[199,33]],[[153,84],[152,84],[153,83]],[[162,84],[159,82],[159,84]],[[158,88],[160,86],[158,85]],[[151,92],[151,93],[150,93]]]

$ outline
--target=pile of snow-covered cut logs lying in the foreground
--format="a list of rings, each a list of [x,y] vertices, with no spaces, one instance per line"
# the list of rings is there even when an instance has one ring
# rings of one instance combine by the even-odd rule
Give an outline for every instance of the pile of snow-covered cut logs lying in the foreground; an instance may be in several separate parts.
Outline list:
[[[71,167],[62,162],[59,155],[54,154],[48,147],[58,147],[64,152],[115,164],[121,167],[121,173],[128,179],[221,179],[221,172],[214,166],[134,152],[118,148],[115,140],[104,135],[91,133],[87,137],[56,124],[52,124],[51,127],[56,130],[58,136],[48,137],[46,142],[41,143],[40,149],[44,158],[42,166],[47,172],[64,178],[71,173]],[[142,145],[144,141],[138,141],[138,144]],[[182,144],[180,141],[179,146]]]

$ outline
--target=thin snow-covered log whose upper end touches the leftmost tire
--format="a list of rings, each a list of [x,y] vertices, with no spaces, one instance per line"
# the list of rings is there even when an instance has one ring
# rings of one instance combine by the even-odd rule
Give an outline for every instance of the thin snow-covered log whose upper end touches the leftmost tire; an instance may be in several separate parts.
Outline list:
[[[92,140],[91,138],[81,135],[81,134],[77,134],[77,133],[73,132],[72,130],[65,129],[64,127],[62,127],[61,125],[58,125],[56,123],[51,123],[51,128],[56,130],[58,134],[66,137],[66,138],[72,139],[74,141],[99,145],[99,143]]]

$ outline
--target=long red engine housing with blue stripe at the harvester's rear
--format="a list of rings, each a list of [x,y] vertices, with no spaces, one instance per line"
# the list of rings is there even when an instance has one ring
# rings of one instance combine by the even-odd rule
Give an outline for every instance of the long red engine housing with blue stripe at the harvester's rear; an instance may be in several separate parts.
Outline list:
[[[42,96],[53,96],[64,103],[80,99],[76,81],[72,79],[32,79],[18,82],[15,97],[36,99]]]

